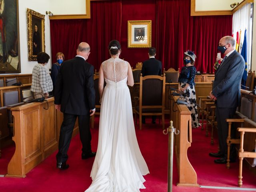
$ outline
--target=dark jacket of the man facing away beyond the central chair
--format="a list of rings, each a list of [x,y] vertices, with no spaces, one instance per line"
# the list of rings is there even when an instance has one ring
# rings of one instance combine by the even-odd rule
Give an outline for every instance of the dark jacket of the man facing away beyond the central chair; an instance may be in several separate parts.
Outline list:
[[[162,62],[156,60],[156,58],[150,58],[142,63],[141,68],[142,76],[146,75],[161,75]]]

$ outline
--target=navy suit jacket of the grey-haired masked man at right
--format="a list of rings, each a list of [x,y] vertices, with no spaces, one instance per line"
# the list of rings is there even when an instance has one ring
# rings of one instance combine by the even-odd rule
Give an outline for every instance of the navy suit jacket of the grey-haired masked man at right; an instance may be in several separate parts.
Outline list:
[[[212,94],[216,96],[219,108],[240,106],[240,84],[244,67],[244,58],[235,50],[217,69]]]

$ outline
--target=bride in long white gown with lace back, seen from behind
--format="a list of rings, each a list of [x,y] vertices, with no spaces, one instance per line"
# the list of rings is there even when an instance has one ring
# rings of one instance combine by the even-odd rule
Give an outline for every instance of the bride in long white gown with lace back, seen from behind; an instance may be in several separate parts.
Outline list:
[[[119,58],[120,43],[109,44],[111,58],[99,71],[101,98],[98,150],[92,166],[92,184],[85,192],[140,192],[148,166],[138,146],[130,91],[130,64]],[[104,79],[106,86],[103,91]]]

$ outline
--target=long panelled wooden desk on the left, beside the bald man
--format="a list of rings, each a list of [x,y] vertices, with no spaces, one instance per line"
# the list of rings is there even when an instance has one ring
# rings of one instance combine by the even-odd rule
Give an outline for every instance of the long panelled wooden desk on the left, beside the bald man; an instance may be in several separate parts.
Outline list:
[[[54,98],[12,108],[16,150],[8,164],[8,177],[26,176],[32,168],[58,149],[62,112],[54,107]],[[76,122],[73,136],[78,133]],[[52,162],[55,165],[56,162]]]

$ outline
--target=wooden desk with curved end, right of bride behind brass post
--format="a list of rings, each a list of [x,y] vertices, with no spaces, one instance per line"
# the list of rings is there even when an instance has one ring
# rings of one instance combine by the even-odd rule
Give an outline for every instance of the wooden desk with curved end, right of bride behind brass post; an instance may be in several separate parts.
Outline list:
[[[180,131],[180,134],[174,137],[174,151],[176,154],[176,162],[178,169],[178,186],[196,186],[199,187],[197,183],[197,175],[193,166],[188,160],[188,148],[192,143],[192,124],[191,124],[191,112],[188,110],[186,105],[176,104],[179,96],[171,97],[171,120],[173,121],[173,126],[176,130]],[[174,105],[173,105],[174,104]]]

